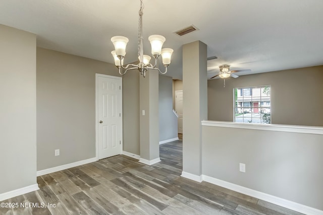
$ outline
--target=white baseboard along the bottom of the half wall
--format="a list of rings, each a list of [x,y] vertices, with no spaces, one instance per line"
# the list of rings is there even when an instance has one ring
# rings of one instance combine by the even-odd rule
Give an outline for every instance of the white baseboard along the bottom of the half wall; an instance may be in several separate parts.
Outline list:
[[[243,194],[246,194],[246,195],[267,201],[267,202],[271,202],[273,204],[277,204],[282,207],[286,207],[291,210],[295,210],[295,211],[298,211],[298,212],[301,212],[301,213],[304,213],[307,215],[323,215],[323,210],[319,210],[319,209],[309,207],[309,206],[306,206],[303,204],[299,204],[299,203],[296,203],[293,201],[289,201],[289,200],[286,200],[286,199],[283,199],[280,197],[276,197],[276,196],[273,196],[270,194],[266,194],[266,193],[259,192],[259,191],[253,190],[253,189],[249,189],[247,187],[236,185],[236,184],[233,184],[233,183],[230,183],[227,181],[223,181],[223,180],[220,180],[217,178],[202,175],[202,179],[203,179],[203,181],[209,182],[211,184],[225,187],[227,189],[234,190],[236,192],[243,193]]]

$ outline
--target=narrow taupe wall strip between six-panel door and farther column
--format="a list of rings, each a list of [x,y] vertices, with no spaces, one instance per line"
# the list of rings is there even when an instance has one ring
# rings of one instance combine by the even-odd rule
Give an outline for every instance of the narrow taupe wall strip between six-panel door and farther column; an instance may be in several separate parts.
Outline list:
[[[123,150],[140,155],[139,72],[123,76]]]

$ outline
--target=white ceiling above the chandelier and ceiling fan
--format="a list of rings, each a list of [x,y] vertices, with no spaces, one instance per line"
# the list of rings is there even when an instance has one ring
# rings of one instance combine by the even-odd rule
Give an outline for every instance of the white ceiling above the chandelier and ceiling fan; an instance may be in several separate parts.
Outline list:
[[[148,36],[174,49],[168,75],[182,78],[182,45],[207,45],[208,76],[219,65],[263,73],[323,64],[321,0],[143,0]],[[0,0],[0,24],[37,34],[37,46],[114,63],[112,36],[129,38],[126,63],[137,59],[139,0]],[[174,34],[190,25],[199,31]],[[1,33],[1,32],[0,32]],[[237,75],[246,75],[239,73]]]

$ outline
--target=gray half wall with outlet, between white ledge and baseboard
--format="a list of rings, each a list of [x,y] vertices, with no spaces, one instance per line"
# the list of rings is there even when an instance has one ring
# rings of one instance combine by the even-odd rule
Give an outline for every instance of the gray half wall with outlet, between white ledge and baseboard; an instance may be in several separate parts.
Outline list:
[[[323,135],[211,126],[202,135],[203,175],[323,210]]]

